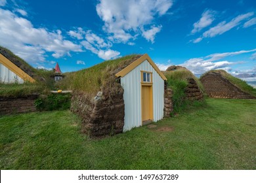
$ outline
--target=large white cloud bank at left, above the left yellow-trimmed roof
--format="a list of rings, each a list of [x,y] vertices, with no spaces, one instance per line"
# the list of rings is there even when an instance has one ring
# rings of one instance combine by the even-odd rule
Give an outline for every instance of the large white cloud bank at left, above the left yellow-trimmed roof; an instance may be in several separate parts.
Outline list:
[[[81,46],[62,37],[62,32],[35,28],[26,18],[20,18],[9,10],[0,8],[1,45],[32,63],[45,61],[45,52],[54,58],[82,52]]]

